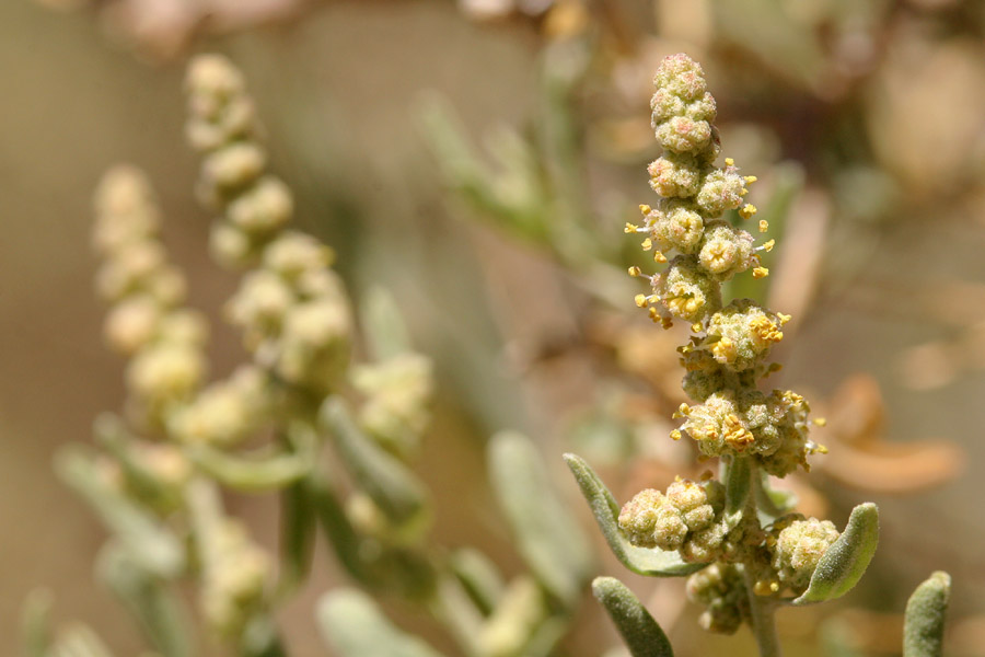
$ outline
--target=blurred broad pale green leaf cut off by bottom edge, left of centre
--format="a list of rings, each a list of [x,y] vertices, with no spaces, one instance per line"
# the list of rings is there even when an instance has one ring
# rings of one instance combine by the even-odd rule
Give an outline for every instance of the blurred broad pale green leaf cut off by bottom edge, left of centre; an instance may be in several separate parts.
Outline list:
[[[372,598],[335,589],[318,601],[318,627],[341,657],[441,657],[428,644],[393,625]]]

